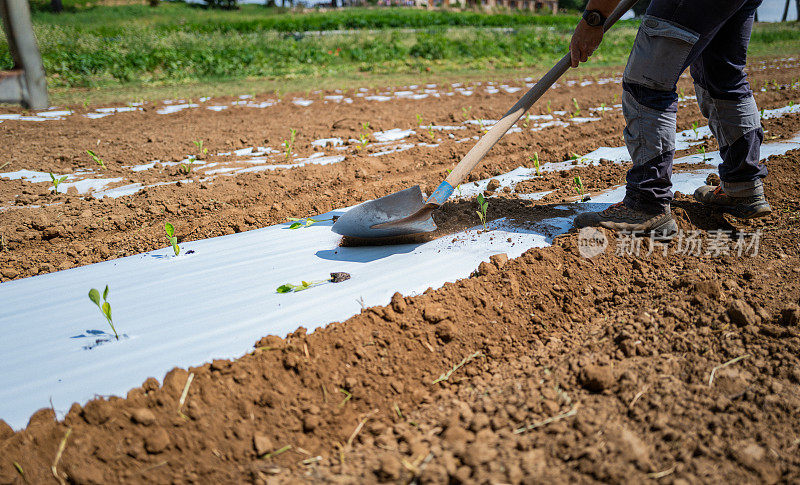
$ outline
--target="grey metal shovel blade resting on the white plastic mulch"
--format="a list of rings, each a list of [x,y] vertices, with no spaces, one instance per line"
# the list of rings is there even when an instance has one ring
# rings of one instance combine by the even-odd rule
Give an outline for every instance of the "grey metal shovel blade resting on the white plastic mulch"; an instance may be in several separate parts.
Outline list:
[[[425,205],[419,185],[359,204],[333,224],[333,232],[363,239],[407,236],[436,230],[432,217],[420,221],[401,221]],[[399,221],[398,224],[392,224]],[[387,224],[388,223],[388,224]],[[377,225],[384,227],[375,227]]]

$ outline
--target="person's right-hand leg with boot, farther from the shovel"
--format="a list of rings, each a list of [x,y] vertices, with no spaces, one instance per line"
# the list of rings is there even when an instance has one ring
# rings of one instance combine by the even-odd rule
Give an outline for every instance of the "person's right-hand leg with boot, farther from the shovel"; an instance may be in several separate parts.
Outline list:
[[[764,132],[744,67],[747,44],[760,0],[749,1],[711,40],[692,64],[697,102],[720,146],[720,188],[701,187],[695,198],[731,214],[750,218],[771,212],[759,163]]]

